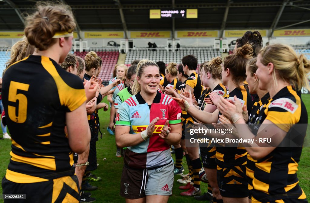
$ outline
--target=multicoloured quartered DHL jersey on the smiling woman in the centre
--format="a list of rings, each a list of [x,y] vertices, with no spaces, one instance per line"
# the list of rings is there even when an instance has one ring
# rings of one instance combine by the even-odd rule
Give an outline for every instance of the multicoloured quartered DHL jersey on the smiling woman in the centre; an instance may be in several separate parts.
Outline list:
[[[153,136],[138,145],[127,147],[124,154],[127,167],[150,169],[171,162],[170,146],[158,134],[167,119],[169,125],[181,123],[181,108],[171,97],[159,92],[150,107],[140,93],[130,97],[119,107],[116,125],[130,126],[131,134],[146,130],[156,117],[159,117],[159,121],[155,124]]]

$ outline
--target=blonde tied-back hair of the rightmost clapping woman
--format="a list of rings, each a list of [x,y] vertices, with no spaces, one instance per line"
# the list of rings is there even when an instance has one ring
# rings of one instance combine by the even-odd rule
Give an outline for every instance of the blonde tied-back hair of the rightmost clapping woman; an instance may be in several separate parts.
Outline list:
[[[259,53],[261,63],[265,66],[268,63],[273,64],[273,80],[277,85],[277,75],[290,84],[293,84],[296,90],[302,87],[310,90],[308,76],[310,72],[310,62],[303,54],[296,54],[289,45],[273,44],[263,47]]]

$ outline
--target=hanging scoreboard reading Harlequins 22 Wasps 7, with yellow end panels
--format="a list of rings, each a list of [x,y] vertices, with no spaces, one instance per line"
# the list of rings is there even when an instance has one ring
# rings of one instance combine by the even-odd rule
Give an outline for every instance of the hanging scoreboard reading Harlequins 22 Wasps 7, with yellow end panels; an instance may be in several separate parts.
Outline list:
[[[197,9],[150,9],[150,19],[197,18]]]

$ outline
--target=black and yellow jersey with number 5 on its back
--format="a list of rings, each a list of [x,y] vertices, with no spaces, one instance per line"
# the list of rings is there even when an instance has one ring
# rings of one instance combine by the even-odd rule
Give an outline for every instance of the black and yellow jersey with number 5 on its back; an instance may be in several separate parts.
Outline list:
[[[36,183],[73,175],[65,116],[86,101],[82,80],[51,58],[30,55],[8,68],[2,85],[12,137],[6,178]]]

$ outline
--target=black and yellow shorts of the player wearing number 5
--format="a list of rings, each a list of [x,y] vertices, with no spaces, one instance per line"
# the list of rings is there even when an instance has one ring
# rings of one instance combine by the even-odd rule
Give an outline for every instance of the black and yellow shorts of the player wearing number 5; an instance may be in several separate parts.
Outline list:
[[[25,194],[26,199],[4,200],[22,203],[50,203],[50,202],[80,202],[80,190],[76,175],[64,176],[53,180],[38,183],[15,183],[2,179],[3,194]],[[69,194],[69,195],[68,195]]]

